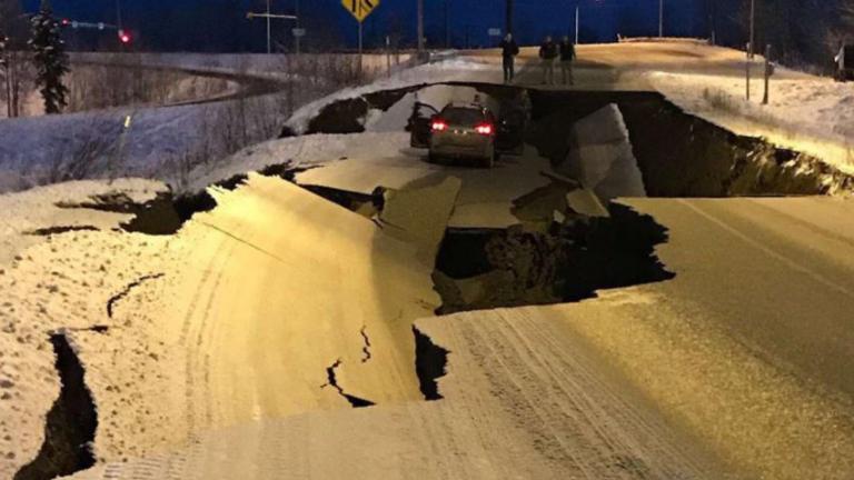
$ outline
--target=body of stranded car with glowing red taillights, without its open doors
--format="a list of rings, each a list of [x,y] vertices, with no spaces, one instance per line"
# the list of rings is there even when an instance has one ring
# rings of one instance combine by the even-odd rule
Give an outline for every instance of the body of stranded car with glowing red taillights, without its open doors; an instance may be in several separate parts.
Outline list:
[[[491,168],[496,158],[495,114],[478,103],[451,103],[430,120],[430,162],[459,160]]]

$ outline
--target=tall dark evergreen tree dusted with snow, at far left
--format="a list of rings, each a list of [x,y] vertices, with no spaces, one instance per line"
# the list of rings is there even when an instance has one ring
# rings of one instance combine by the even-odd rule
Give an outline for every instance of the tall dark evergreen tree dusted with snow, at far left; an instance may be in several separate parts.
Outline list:
[[[44,99],[44,112],[59,113],[67,104],[68,89],[62,83],[62,77],[69,72],[68,54],[50,0],[41,0],[41,8],[32,18],[31,27],[29,44],[37,69],[36,84]]]

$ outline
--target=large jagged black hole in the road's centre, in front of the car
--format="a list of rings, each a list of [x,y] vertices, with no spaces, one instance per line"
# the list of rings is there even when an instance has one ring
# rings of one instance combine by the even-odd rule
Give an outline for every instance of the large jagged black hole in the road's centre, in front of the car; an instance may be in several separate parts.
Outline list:
[[[449,229],[436,260],[437,313],[574,302],[597,290],[671,280],[655,254],[667,229],[614,203],[609,218],[506,230]]]

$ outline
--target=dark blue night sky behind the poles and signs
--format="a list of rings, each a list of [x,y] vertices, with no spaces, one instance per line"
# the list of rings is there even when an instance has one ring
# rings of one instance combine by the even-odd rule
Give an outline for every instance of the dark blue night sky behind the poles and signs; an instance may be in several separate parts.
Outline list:
[[[573,31],[576,0],[516,0],[516,31],[524,43],[538,42],[545,34],[563,36]],[[582,4],[582,41],[613,41],[617,32],[629,36],[656,34],[658,0],[577,0]],[[24,0],[33,11],[39,0]],[[250,7],[261,10],[264,0],[121,0],[125,23],[148,37],[159,49],[198,50],[260,50],[264,47],[264,22],[249,22],[242,18]],[[231,19],[228,28],[212,17],[214,6],[240,4],[240,18]],[[274,10],[292,12],[296,0],[272,0]],[[52,0],[58,16],[79,20],[108,21],[116,18],[115,0]],[[428,44],[445,41],[445,0],[425,0]],[[704,36],[701,11],[702,0],[667,0],[666,33],[674,36]],[[505,0],[447,0],[450,37],[456,47],[486,46],[490,27],[504,28]],[[415,0],[381,0],[376,12],[365,23],[366,44],[378,44],[398,24],[404,42],[415,40]],[[357,23],[340,4],[340,0],[301,0],[301,9],[309,36],[325,36],[327,43],[352,47]],[[193,17],[198,16],[198,21]],[[207,16],[207,17],[206,17]],[[178,27],[181,23],[181,27]],[[185,26],[186,24],[186,26]],[[279,34],[285,30],[279,23]],[[217,32],[217,29],[222,31]],[[190,34],[190,31],[192,34]],[[207,31],[196,31],[207,30]],[[239,31],[245,37],[231,47],[218,47],[218,38]],[[186,41],[176,37],[187,32]],[[219,37],[217,37],[219,36]],[[190,41],[189,38],[199,40]],[[284,36],[282,36],[284,38]],[[309,39],[310,40],[310,39]],[[203,44],[201,44],[203,43]]]

